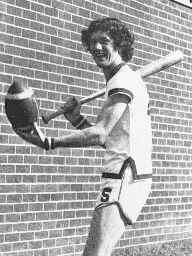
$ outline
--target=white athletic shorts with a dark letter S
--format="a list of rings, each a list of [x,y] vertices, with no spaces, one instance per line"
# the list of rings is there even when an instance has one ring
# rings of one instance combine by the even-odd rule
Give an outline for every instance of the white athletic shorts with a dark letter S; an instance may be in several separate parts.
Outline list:
[[[102,178],[96,208],[118,203],[127,218],[127,224],[132,225],[146,203],[151,184],[152,178],[134,181],[131,167],[128,165],[122,179]]]

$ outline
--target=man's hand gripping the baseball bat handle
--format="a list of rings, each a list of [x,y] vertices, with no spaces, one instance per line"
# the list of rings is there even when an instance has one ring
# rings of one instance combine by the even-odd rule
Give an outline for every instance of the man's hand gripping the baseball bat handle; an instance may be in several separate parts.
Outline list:
[[[66,113],[64,113],[64,117],[70,123],[76,122],[76,120],[78,120],[81,116],[81,104],[76,100],[75,97],[69,99],[61,108],[66,111]]]

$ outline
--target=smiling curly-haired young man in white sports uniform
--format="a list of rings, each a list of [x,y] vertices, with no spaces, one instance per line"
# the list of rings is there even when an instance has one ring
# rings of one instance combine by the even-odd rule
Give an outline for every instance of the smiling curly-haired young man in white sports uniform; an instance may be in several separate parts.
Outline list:
[[[107,82],[96,124],[92,126],[81,116],[81,105],[73,98],[62,108],[75,107],[65,117],[79,132],[43,138],[36,124],[32,134],[15,131],[46,150],[95,145],[106,148],[101,190],[83,256],[110,256],[126,225],[136,221],[151,188],[149,97],[140,76],[126,64],[132,58],[134,36],[120,20],[93,21],[82,31],[82,42]]]

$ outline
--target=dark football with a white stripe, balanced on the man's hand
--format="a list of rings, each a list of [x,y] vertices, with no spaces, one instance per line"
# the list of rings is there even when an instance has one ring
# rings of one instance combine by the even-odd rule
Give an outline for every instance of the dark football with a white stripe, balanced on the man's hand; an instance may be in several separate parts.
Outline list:
[[[39,116],[33,90],[24,84],[13,82],[6,94],[5,112],[14,128],[32,126]]]

